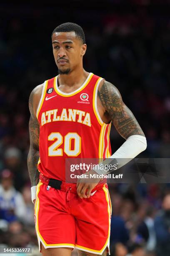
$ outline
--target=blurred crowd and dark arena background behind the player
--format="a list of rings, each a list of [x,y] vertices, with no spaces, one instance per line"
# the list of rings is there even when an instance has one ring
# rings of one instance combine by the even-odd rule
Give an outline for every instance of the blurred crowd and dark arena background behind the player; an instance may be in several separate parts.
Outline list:
[[[0,8],[0,244],[30,246],[32,255],[39,255],[26,164],[28,97],[57,74],[50,36],[60,23],[76,22],[84,29],[85,69],[120,90],[147,137],[140,156],[169,158],[170,18],[166,8],[152,12],[150,1],[140,2],[145,6],[126,12],[123,5],[116,11],[76,9],[69,14],[60,6],[57,13],[52,8]],[[112,152],[124,141],[113,127],[110,139]],[[168,184],[110,184],[112,256],[170,255],[168,189]]]

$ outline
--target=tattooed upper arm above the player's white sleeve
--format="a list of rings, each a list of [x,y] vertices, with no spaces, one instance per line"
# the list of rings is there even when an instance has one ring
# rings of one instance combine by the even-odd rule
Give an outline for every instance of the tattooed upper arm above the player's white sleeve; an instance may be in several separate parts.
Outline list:
[[[110,115],[112,123],[123,138],[127,139],[135,134],[145,136],[133,113],[123,103],[120,92],[113,84],[105,81],[100,92],[98,91],[98,96]]]

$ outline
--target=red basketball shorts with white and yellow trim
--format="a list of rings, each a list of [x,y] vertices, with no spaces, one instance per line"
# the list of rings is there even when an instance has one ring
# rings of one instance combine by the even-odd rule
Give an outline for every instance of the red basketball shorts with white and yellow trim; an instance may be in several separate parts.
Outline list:
[[[75,186],[76,184],[71,184]],[[70,191],[70,192],[69,192]],[[107,184],[90,198],[41,182],[36,189],[35,228],[45,248],[70,247],[102,255],[109,248],[111,203]]]

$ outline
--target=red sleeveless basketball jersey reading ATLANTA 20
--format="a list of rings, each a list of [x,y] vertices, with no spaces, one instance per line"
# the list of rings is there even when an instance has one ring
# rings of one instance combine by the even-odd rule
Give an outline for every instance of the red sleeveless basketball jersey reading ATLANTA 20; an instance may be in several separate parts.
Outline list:
[[[37,108],[40,123],[38,170],[48,178],[65,181],[65,159],[105,159],[110,151],[110,124],[97,110],[101,77],[90,73],[80,88],[61,92],[57,77],[44,82]]]

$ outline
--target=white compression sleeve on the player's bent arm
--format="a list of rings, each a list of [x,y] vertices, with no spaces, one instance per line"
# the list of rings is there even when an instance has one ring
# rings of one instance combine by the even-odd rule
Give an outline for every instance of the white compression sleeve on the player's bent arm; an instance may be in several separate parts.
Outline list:
[[[144,151],[146,147],[147,142],[144,136],[132,135],[122,144],[122,146],[120,146],[119,149],[117,149],[117,151],[114,154],[112,154],[112,156],[110,156],[107,160],[103,161],[100,164],[109,164],[112,161],[112,159],[115,159],[117,161],[117,169],[119,169],[123,165],[127,164],[130,160],[135,158],[135,156],[138,156],[138,154]],[[98,174],[108,174],[113,170],[106,172],[103,169],[95,167],[94,171],[97,172]]]

